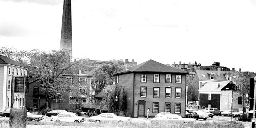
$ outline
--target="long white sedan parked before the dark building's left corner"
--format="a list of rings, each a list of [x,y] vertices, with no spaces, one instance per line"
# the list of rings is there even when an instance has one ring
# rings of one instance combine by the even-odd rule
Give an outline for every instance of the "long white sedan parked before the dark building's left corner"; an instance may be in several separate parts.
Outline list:
[[[130,117],[116,116],[114,113],[102,113],[89,118],[90,122],[130,122]]]

